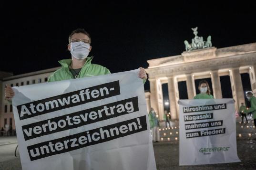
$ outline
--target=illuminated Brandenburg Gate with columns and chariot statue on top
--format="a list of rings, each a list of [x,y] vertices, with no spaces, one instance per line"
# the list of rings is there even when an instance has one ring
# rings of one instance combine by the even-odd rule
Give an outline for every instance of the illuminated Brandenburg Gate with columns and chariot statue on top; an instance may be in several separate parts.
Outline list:
[[[188,99],[196,95],[195,80],[211,78],[215,99],[222,98],[220,76],[229,76],[236,110],[245,103],[241,80],[242,73],[249,73],[252,91],[256,93],[256,43],[234,47],[216,48],[197,36],[197,28],[192,28],[195,38],[192,44],[184,41],[186,51],[178,56],[148,60],[146,72],[149,75],[150,93],[146,93],[148,108],[153,107],[159,119],[164,118],[162,84],[168,83],[170,113],[172,120],[179,119],[178,82],[186,81]],[[248,80],[249,81],[249,80]]]

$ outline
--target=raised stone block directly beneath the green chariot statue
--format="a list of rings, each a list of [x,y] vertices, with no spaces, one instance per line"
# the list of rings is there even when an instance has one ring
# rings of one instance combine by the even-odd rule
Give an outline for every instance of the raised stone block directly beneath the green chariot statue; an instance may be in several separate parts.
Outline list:
[[[184,57],[184,62],[194,62],[215,58],[215,51],[217,48],[197,49],[193,51],[185,51],[181,55]]]

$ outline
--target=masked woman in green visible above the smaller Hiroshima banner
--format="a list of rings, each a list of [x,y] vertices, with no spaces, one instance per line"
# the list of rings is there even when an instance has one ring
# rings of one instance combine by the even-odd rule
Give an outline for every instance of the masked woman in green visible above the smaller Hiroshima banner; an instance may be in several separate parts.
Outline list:
[[[200,81],[198,89],[200,90],[200,94],[196,94],[194,99],[214,99],[207,81]]]

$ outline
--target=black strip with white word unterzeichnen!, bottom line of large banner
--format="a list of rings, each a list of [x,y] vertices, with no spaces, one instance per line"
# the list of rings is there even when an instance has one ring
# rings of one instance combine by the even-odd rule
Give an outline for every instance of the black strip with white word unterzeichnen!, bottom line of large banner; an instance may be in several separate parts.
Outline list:
[[[147,130],[146,116],[28,146],[31,161]]]

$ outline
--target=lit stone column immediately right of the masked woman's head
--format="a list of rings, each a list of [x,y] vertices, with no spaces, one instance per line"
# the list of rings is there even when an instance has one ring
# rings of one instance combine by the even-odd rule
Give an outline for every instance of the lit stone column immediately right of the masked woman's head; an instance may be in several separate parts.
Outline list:
[[[222,99],[221,84],[220,84],[220,77],[218,75],[218,70],[212,71],[211,79],[212,79],[214,98]]]

